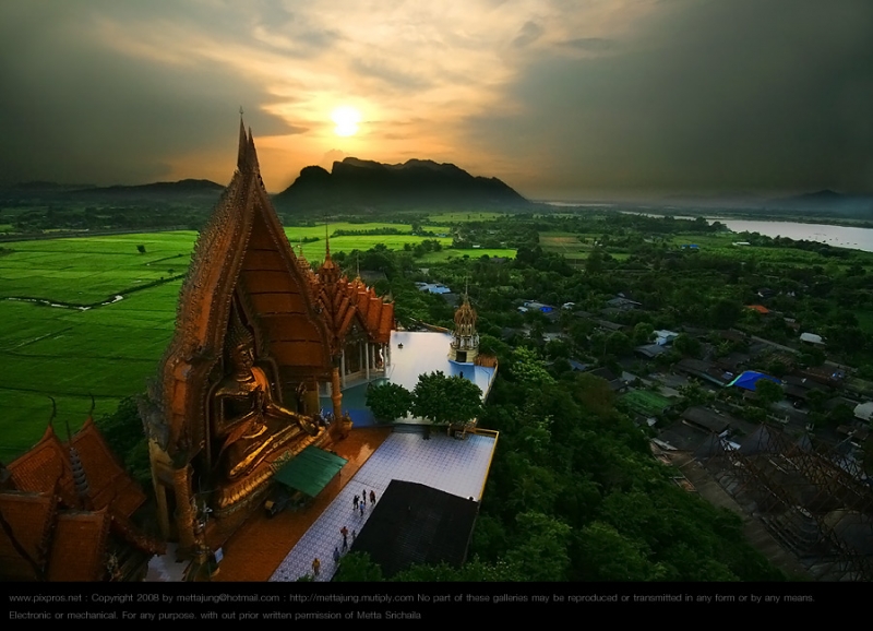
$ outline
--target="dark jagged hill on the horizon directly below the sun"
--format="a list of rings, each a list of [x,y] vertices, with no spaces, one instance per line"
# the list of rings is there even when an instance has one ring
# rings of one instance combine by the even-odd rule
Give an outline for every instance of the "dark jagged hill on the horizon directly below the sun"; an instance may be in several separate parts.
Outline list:
[[[303,168],[274,201],[289,211],[312,206],[525,206],[529,203],[498,178],[471,176],[453,164],[410,159],[386,165],[355,157],[335,162],[331,172],[319,166]]]

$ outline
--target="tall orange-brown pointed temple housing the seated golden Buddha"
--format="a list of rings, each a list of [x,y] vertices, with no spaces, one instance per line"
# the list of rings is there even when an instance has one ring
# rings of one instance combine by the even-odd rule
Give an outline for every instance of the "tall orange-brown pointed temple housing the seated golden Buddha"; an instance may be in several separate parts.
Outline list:
[[[330,248],[318,273],[295,255],[240,120],[237,169],[194,246],[140,407],[158,523],[180,556],[214,550],[283,466],[345,436],[343,384],[384,371],[393,324],[394,306],[348,282]]]

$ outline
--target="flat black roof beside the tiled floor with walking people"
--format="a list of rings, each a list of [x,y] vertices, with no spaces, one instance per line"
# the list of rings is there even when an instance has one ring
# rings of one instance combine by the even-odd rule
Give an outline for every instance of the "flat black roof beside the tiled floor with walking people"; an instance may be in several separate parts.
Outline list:
[[[414,563],[461,567],[479,503],[421,484],[391,480],[351,551],[368,552],[386,576]]]

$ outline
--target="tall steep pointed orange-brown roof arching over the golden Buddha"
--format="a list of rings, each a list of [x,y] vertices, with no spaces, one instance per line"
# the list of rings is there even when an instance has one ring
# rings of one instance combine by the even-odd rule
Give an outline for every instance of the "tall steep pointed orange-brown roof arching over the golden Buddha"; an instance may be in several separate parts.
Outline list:
[[[176,333],[162,361],[155,397],[168,425],[170,454],[191,455],[203,445],[208,374],[222,361],[235,299],[254,333],[255,355],[274,362],[283,380],[328,372],[327,331],[242,120],[237,170],[194,246]]]

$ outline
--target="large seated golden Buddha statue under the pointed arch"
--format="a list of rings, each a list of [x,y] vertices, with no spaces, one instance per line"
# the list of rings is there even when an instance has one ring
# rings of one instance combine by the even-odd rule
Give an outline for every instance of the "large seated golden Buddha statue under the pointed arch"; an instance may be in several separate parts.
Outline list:
[[[212,436],[215,462],[236,479],[261,464],[275,450],[303,433],[316,436],[319,426],[307,416],[276,403],[263,369],[254,365],[252,334],[236,310],[228,332],[232,371],[213,393]]]

